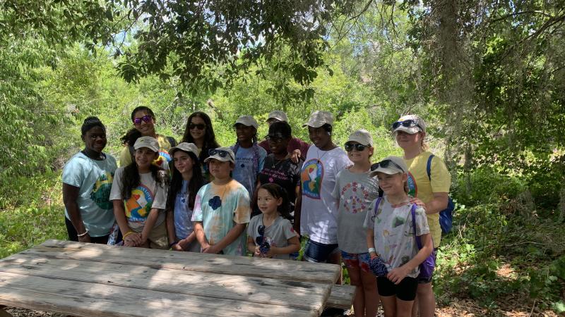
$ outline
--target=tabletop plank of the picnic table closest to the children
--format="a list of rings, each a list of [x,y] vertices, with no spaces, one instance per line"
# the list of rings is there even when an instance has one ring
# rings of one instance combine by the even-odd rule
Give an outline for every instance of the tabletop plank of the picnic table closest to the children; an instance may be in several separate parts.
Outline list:
[[[140,265],[150,268],[168,268],[172,270],[319,283],[334,283],[338,280],[341,269],[340,266],[326,263],[114,247],[60,240],[47,240],[39,246],[22,253],[49,256],[57,259],[76,259]]]

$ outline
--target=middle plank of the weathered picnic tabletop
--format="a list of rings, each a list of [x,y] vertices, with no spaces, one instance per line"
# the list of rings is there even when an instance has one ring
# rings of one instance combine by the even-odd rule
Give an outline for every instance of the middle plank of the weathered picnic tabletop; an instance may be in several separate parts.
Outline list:
[[[277,304],[314,311],[321,311],[331,289],[329,284],[313,282],[157,270],[114,263],[50,259],[30,254],[15,254],[1,260],[0,272],[182,293],[209,297],[210,300],[220,298],[253,302],[258,305]],[[292,292],[289,292],[291,287]]]

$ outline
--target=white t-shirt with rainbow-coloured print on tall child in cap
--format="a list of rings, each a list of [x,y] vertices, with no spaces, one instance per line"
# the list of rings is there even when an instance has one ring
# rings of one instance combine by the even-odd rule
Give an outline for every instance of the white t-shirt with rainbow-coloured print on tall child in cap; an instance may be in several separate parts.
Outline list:
[[[314,242],[338,243],[338,200],[333,197],[335,178],[352,163],[343,149],[321,151],[315,145],[308,149],[302,166],[302,212],[300,232]]]

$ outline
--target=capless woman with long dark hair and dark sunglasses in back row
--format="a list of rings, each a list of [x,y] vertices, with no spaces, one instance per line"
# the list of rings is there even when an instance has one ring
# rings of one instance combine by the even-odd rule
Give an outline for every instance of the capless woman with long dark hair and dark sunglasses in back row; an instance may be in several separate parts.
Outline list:
[[[181,142],[194,143],[198,149],[198,160],[203,162],[208,157],[208,151],[220,147],[216,142],[214,129],[212,128],[212,120],[203,112],[197,111],[192,113],[186,120],[186,129],[182,136]],[[210,180],[210,172],[206,164],[201,165],[203,173],[207,180]]]

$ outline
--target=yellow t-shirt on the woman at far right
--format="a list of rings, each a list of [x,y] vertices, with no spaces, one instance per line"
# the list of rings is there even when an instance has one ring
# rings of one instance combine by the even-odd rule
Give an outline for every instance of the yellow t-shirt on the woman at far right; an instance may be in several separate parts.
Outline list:
[[[437,156],[434,156],[432,159],[432,166],[430,168],[432,182],[430,183],[426,170],[430,155],[432,153],[424,151],[413,159],[404,160],[408,166],[408,194],[412,197],[420,198],[424,203],[434,199],[434,192],[449,192],[449,187],[451,186],[451,175],[444,162]],[[432,233],[432,239],[434,240],[434,248],[439,247],[439,242],[441,242],[439,213],[428,214],[427,218],[429,231]]]

